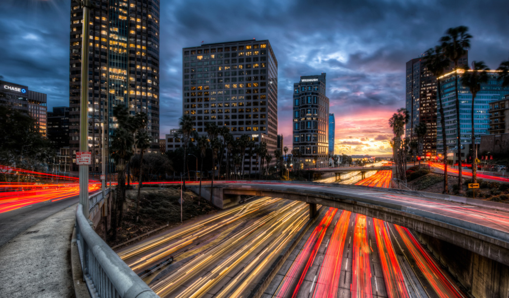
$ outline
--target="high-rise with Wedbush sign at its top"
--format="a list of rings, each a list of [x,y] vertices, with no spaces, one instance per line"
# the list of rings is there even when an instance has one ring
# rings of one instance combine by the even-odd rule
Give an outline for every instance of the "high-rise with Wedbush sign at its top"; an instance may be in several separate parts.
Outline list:
[[[325,96],[325,75],[301,76],[293,84],[293,147],[300,151],[300,168],[329,164],[329,99]]]

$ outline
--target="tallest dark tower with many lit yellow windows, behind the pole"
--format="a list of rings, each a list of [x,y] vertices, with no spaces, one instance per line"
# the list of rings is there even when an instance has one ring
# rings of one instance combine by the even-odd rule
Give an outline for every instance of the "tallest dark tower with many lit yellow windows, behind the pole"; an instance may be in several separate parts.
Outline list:
[[[116,105],[148,114],[150,152],[159,151],[159,1],[102,0],[90,11],[89,151],[91,172],[101,169],[101,149],[116,128]],[[73,165],[79,148],[82,9],[71,5],[69,139]],[[108,142],[102,141],[102,123]],[[111,167],[109,167],[111,169]]]

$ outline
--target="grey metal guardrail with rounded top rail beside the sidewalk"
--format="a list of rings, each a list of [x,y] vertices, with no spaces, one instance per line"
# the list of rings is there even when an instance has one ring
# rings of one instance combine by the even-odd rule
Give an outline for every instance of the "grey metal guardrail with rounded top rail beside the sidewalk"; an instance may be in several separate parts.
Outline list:
[[[76,210],[76,239],[83,279],[92,297],[159,297],[92,229],[81,204]]]

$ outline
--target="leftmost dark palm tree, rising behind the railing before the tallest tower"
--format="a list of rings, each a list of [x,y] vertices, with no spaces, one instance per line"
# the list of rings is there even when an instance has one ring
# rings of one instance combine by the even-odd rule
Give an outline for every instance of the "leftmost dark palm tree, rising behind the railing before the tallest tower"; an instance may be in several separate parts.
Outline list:
[[[112,216],[113,230],[112,238],[117,239],[117,228],[121,225],[124,215],[124,202],[125,202],[125,175],[126,166],[132,157],[132,145],[134,139],[131,132],[127,129],[119,127],[115,130],[115,134],[111,139],[111,157],[115,161],[115,169],[118,172],[118,182],[116,191],[115,211]]]

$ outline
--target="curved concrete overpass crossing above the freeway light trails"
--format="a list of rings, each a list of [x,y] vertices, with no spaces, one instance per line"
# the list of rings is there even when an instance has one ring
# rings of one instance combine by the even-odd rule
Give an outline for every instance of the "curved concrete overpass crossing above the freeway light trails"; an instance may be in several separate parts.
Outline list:
[[[232,205],[240,200],[241,195],[303,201],[309,204],[310,216],[316,214],[316,205],[321,204],[378,218],[509,265],[507,204],[351,185],[291,182],[214,185],[213,201],[216,205],[218,202],[229,202]]]

